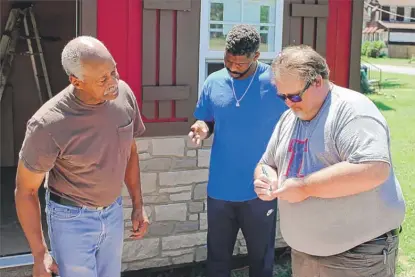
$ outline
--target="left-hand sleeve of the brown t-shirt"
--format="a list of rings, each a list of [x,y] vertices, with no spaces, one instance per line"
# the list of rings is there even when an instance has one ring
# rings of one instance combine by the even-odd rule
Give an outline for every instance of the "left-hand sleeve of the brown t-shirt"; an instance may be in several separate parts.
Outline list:
[[[27,169],[36,173],[50,171],[60,152],[49,131],[38,121],[29,120],[19,158]]]

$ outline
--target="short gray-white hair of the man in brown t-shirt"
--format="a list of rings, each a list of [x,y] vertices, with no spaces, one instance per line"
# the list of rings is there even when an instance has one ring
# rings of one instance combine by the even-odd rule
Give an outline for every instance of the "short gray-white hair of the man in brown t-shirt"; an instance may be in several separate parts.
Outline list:
[[[68,76],[83,80],[82,61],[90,58],[112,59],[105,45],[90,36],[79,36],[69,41],[62,50],[61,63]]]

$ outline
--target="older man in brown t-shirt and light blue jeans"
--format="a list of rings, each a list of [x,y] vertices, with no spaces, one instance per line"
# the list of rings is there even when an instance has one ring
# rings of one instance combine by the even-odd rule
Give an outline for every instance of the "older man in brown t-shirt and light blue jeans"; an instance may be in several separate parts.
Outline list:
[[[16,208],[34,256],[33,275],[120,276],[124,183],[133,203],[131,236],[141,238],[148,227],[134,140],[145,127],[133,92],[100,41],[73,39],[62,66],[70,85],[28,121],[19,154]],[[40,220],[37,191],[45,177],[56,263]]]

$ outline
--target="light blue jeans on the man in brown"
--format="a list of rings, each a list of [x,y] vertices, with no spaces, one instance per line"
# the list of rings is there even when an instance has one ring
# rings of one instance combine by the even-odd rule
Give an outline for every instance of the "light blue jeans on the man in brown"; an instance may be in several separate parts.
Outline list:
[[[121,275],[124,218],[122,197],[103,210],[49,200],[46,216],[52,255],[61,277]]]

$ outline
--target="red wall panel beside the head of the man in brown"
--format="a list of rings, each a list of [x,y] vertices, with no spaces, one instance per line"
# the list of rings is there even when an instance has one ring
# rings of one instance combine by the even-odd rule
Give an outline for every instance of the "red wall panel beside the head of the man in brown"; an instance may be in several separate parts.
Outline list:
[[[118,71],[142,106],[142,0],[96,0],[97,38],[117,62]]]

